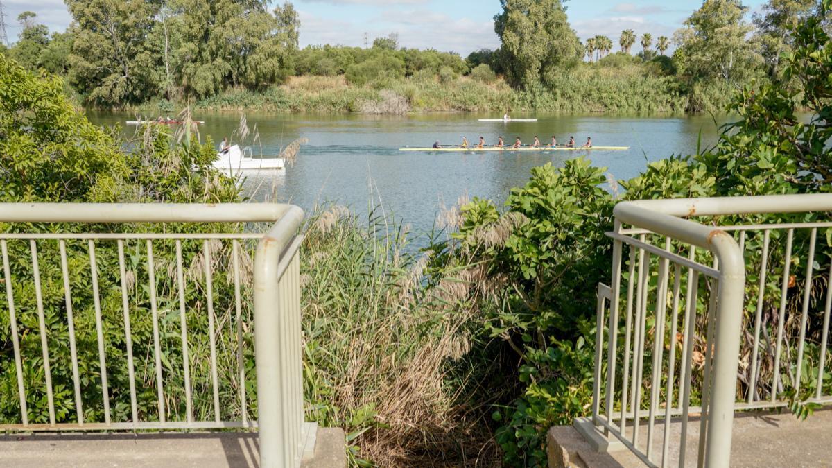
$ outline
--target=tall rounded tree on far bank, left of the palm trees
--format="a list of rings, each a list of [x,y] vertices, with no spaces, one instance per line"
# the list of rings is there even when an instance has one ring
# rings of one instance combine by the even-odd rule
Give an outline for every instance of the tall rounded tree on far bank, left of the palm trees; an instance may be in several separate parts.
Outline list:
[[[574,67],[582,57],[581,42],[567,21],[560,0],[500,0],[494,31],[503,42],[508,81],[531,87],[553,68]]]

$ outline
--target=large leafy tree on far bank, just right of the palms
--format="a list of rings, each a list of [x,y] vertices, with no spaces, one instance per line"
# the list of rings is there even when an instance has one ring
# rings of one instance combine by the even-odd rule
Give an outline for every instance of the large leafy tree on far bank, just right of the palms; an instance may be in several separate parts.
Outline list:
[[[679,72],[691,80],[722,78],[742,82],[761,62],[740,0],[706,0],[676,31],[674,57]]]

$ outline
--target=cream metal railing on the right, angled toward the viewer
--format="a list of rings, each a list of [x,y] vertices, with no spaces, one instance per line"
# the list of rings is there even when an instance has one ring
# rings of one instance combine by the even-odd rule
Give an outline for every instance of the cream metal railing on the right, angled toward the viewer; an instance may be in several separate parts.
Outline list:
[[[592,424],[647,466],[729,466],[735,410],[832,402],[829,211],[827,194],[618,204]]]

